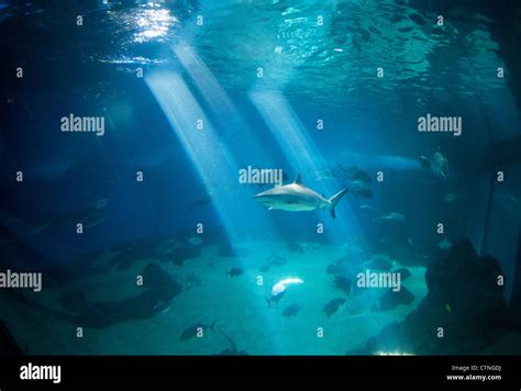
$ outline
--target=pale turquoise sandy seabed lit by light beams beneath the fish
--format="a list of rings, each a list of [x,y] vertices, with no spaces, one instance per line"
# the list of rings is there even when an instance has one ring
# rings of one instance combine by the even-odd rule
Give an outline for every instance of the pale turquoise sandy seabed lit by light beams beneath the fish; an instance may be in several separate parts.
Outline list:
[[[345,355],[363,348],[367,339],[383,326],[402,320],[425,295],[424,267],[407,267],[411,277],[402,281],[415,297],[409,305],[372,312],[370,306],[384,289],[365,289],[361,294],[346,294],[335,287],[326,267],[345,254],[345,248],[333,245],[302,244],[303,254],[288,252],[285,243],[248,241],[250,255],[241,258],[217,256],[218,246],[203,246],[197,258],[184,266],[159,262],[174,279],[186,284],[192,273],[201,284],[185,289],[162,313],[152,319],[130,321],[103,328],[85,328],[77,338],[76,327],[30,309],[13,299],[4,299],[5,322],[19,343],[30,354],[108,354],[108,355],[215,355],[230,348],[231,343],[219,331],[203,329],[200,338],[180,339],[190,325],[217,321],[236,344],[250,355]],[[245,246],[246,246],[245,245]],[[281,266],[260,272],[259,267],[275,252],[286,258]],[[96,262],[102,262],[97,259]],[[79,289],[89,301],[118,300],[136,294],[136,276],[157,259],[138,259],[128,270],[81,277],[63,291]],[[244,273],[230,277],[232,267]],[[401,267],[393,260],[393,269]],[[258,277],[263,284],[258,284]],[[267,305],[271,286],[277,281],[298,277],[301,284],[288,287],[285,297]],[[41,294],[37,299],[47,308],[56,308],[58,292]],[[346,299],[336,313],[328,317],[323,306],[332,299]],[[296,316],[282,316],[284,309],[298,304]],[[318,336],[318,331],[323,336]],[[30,347],[30,348],[29,348]]]

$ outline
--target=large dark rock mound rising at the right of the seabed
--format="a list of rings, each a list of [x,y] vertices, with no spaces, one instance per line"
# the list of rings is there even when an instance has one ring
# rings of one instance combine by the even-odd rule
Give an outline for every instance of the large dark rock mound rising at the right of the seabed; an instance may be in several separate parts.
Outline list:
[[[470,242],[455,243],[428,267],[428,294],[403,322],[370,338],[368,354],[408,351],[418,355],[477,354],[512,331],[502,275],[496,259],[478,257]],[[437,337],[443,327],[443,338]]]

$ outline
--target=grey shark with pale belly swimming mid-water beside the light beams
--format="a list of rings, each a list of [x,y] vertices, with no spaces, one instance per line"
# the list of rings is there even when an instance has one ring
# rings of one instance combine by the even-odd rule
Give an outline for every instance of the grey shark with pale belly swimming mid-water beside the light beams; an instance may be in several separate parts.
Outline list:
[[[348,190],[348,188],[344,188],[330,199],[326,199],[324,196],[320,196],[314,190],[303,186],[302,176],[299,172],[295,182],[276,186],[273,189],[255,194],[253,198],[268,206],[268,210],[279,209],[289,212],[329,210],[334,219],[334,208]]]

